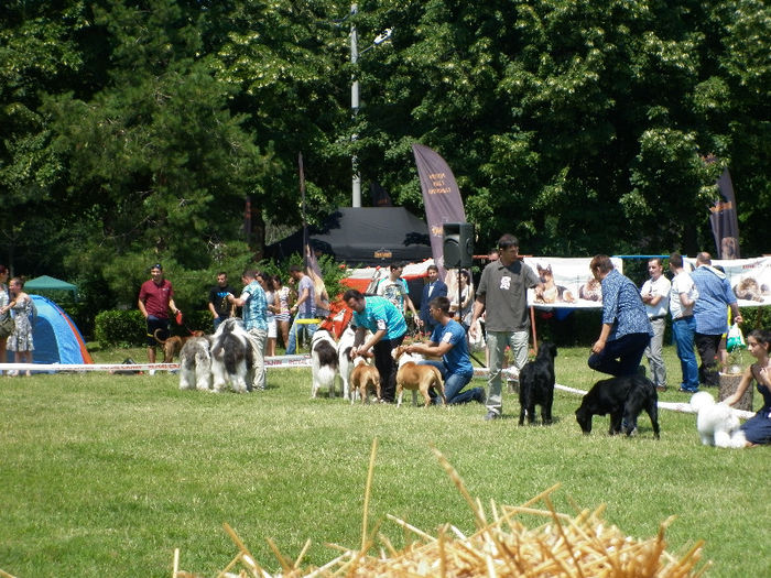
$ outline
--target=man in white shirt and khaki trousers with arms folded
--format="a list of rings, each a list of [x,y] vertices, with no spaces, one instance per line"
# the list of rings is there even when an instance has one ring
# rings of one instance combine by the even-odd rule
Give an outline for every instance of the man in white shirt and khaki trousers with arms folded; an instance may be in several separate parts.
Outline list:
[[[658,257],[648,261],[648,274],[651,275],[651,279],[645,281],[640,290],[642,303],[645,304],[645,313],[653,328],[653,337],[645,348],[645,357],[648,358],[648,367],[651,369],[653,385],[659,391],[666,391],[666,366],[661,357],[661,350],[664,345],[671,285],[670,280],[664,276],[664,266]]]

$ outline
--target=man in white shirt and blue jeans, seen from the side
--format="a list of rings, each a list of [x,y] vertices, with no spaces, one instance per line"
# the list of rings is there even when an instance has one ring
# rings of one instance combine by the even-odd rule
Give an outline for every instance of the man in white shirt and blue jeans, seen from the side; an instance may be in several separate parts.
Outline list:
[[[672,335],[677,346],[677,357],[683,371],[680,391],[694,393],[698,391],[698,364],[694,353],[694,335],[696,334],[694,304],[698,298],[698,291],[691,274],[683,268],[683,255],[680,253],[670,255],[670,271],[674,274],[670,292]]]

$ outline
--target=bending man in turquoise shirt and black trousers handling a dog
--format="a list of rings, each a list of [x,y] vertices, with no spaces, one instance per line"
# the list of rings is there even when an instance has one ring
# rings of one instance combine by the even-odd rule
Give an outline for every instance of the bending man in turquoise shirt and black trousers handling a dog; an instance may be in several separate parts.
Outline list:
[[[346,291],[343,299],[354,312],[351,325],[356,328],[356,339],[350,350],[351,359],[372,349],[374,367],[378,368],[382,384],[382,401],[393,403],[397,392],[397,363],[391,357],[391,350],[404,340],[404,315],[386,297],[365,297],[357,290]],[[365,341],[367,329],[372,331],[372,336]]]

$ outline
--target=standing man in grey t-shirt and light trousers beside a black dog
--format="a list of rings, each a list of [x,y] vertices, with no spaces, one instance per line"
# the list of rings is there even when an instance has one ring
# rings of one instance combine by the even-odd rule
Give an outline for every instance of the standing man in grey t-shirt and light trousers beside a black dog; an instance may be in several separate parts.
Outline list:
[[[543,288],[537,274],[519,258],[519,244],[517,238],[508,233],[498,240],[499,259],[485,266],[474,304],[469,335],[476,335],[476,321],[487,312],[485,330],[490,374],[485,419],[499,418],[503,410],[501,363],[507,346],[514,353],[518,371],[528,361],[528,290]]]

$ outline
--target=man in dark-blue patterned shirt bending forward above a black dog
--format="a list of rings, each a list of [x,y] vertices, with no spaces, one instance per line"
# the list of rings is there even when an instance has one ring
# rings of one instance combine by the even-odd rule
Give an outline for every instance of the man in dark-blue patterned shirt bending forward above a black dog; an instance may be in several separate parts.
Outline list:
[[[615,377],[633,375],[653,336],[640,292],[608,255],[595,255],[589,269],[602,285],[602,329],[588,364]]]

